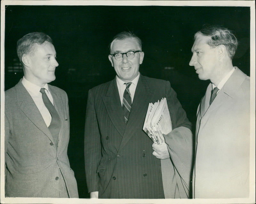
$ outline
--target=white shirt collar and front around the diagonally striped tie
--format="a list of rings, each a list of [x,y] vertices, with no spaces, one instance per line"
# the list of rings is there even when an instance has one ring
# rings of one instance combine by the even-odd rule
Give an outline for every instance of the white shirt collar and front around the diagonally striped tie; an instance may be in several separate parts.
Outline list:
[[[135,90],[136,90],[139,78],[140,78],[140,73],[138,74],[138,76],[135,77],[135,79],[133,79],[131,81],[132,83],[129,87],[132,101],[134,98],[134,94],[135,94]],[[123,106],[124,90],[126,89],[126,85],[124,83],[126,83],[126,82],[124,82],[123,80],[121,80],[119,77],[116,76],[116,83],[117,83],[117,88],[118,88],[118,92],[119,92],[119,96],[120,96],[120,100],[121,100],[121,105]]]

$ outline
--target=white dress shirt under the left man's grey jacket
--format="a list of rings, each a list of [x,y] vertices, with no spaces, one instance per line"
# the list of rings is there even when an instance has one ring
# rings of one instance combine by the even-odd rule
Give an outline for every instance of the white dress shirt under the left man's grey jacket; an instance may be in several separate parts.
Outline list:
[[[52,116],[51,116],[50,112],[48,111],[48,109],[46,108],[46,106],[44,105],[42,93],[40,92],[40,89],[44,88],[46,95],[48,96],[49,100],[53,104],[53,98],[48,89],[48,84],[46,83],[44,85],[44,87],[40,87],[40,86],[37,86],[36,84],[29,82],[27,79],[25,79],[24,76],[22,78],[21,83],[26,88],[26,90],[28,91],[28,93],[30,94],[32,99],[34,100],[36,107],[38,108],[38,110],[40,111],[40,113],[44,119],[45,124],[47,125],[47,127],[49,127],[49,125],[51,124],[51,121],[52,121]]]

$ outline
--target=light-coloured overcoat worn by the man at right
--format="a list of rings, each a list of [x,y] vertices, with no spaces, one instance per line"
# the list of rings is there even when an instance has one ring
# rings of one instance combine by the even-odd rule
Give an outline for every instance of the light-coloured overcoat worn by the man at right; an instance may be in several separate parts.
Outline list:
[[[249,196],[250,77],[236,67],[209,106],[212,84],[197,110],[195,198]]]

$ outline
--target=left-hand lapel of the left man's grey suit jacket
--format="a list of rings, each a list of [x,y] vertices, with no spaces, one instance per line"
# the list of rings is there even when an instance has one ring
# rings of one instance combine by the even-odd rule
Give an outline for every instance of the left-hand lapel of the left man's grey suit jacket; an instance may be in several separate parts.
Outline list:
[[[35,124],[44,134],[53,141],[52,134],[46,126],[44,119],[38,110],[34,100],[21,83],[21,80],[15,86],[18,104],[20,104],[21,111],[28,117],[28,119]]]

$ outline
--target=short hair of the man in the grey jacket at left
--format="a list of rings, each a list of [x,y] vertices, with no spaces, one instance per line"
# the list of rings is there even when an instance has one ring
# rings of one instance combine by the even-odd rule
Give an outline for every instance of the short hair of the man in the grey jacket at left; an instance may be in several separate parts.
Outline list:
[[[45,41],[52,43],[52,38],[42,32],[33,32],[24,35],[17,42],[17,54],[21,61],[23,54],[33,54],[34,44],[43,44]]]

